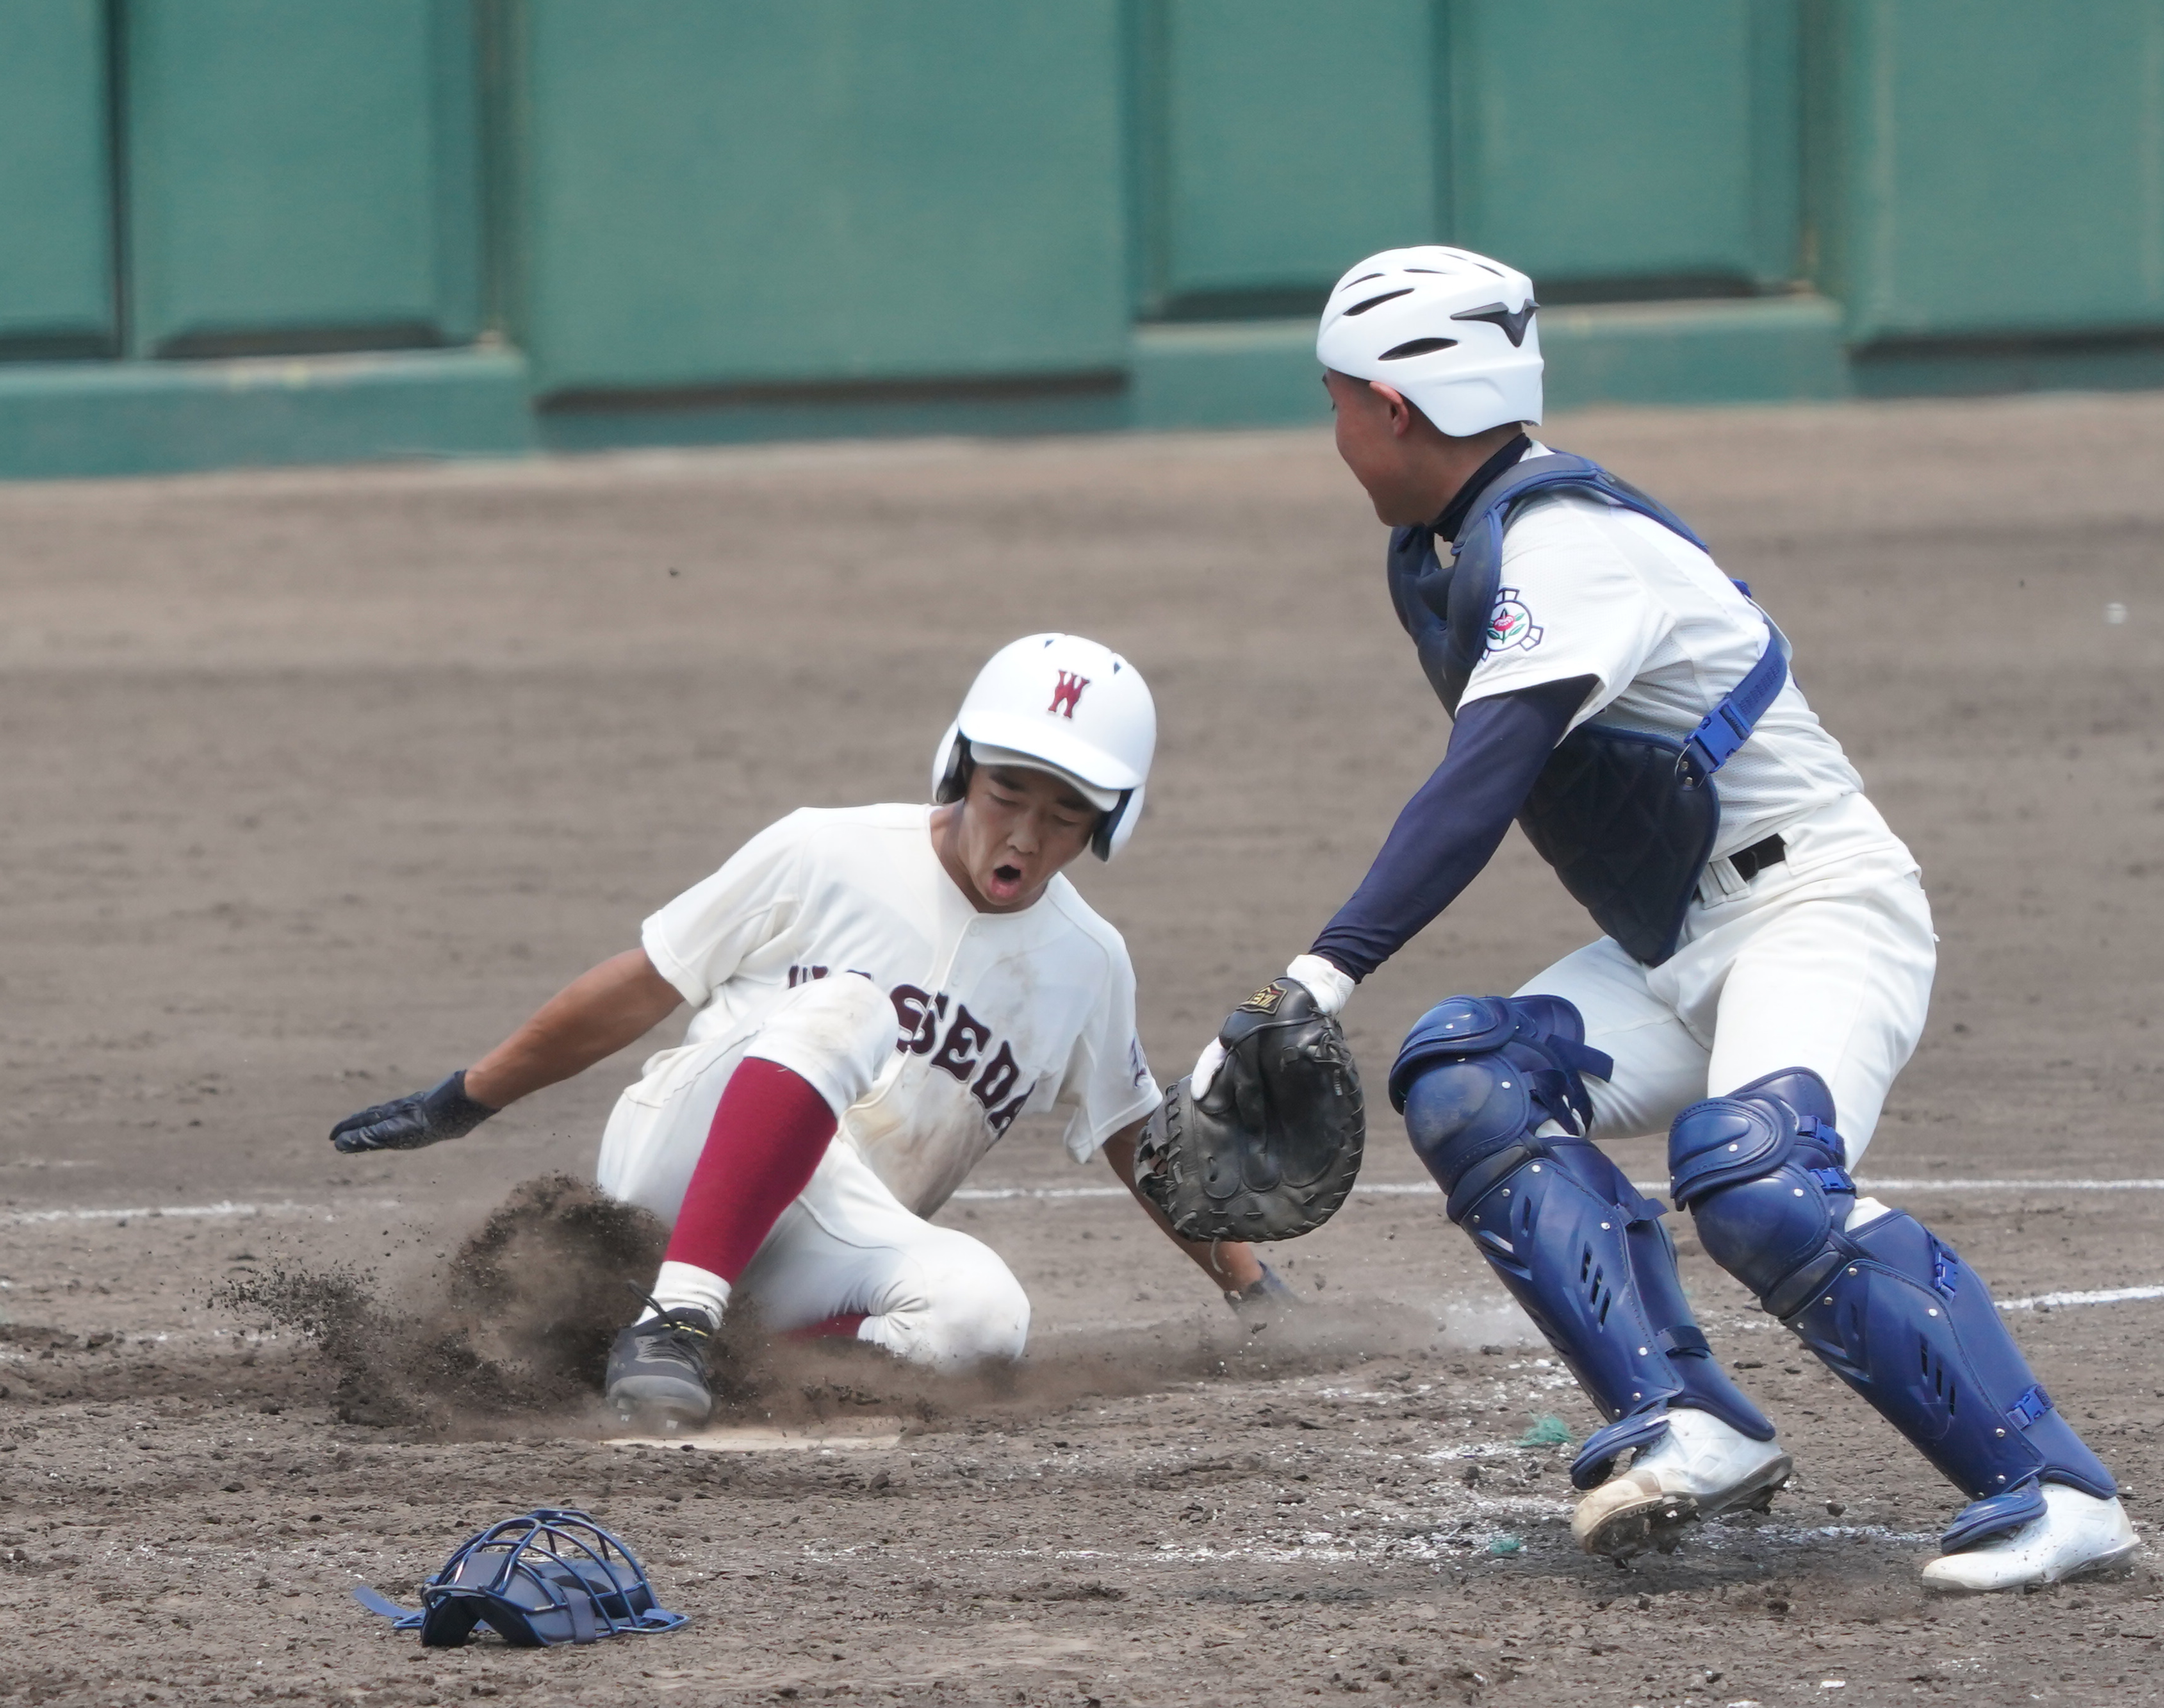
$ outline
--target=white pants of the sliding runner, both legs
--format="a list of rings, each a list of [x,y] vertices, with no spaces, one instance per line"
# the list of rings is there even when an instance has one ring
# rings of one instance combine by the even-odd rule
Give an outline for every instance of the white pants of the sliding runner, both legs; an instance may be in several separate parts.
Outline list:
[[[673,1224],[721,1092],[747,1055],[803,1075],[844,1109],[894,1055],[894,1008],[870,979],[827,977],[796,986],[742,1031],[654,1055],[608,1116],[602,1191]],[[905,1209],[842,1135],[729,1297],[781,1334],[861,1315],[859,1340],[935,1369],[1019,1358],[1030,1338],[1030,1299],[1000,1256]]]

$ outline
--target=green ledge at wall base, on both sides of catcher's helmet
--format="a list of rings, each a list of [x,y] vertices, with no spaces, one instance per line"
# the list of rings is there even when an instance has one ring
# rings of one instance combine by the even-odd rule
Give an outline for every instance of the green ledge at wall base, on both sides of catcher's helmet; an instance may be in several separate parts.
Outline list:
[[[1554,409],[1729,404],[1850,393],[1842,316],[1822,296],[1543,309]],[[1329,419],[1311,320],[1138,326],[1132,426]]]

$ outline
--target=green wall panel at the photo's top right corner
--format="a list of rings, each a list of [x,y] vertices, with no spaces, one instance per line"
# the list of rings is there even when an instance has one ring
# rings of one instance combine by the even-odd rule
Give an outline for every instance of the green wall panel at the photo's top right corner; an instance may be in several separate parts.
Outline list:
[[[2164,322],[2160,0],[1848,0],[1826,28],[1850,337]]]

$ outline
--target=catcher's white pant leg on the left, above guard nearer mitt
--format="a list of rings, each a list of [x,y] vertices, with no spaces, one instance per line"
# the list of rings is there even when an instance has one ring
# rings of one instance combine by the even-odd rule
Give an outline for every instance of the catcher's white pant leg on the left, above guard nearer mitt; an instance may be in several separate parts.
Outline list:
[[[1614,1059],[1614,1077],[1586,1075],[1595,1139],[1666,1133],[1705,1096],[1705,1042],[1651,992],[1647,969],[1612,938],[1573,949],[1517,995],[1562,997],[1586,1023],[1586,1042]]]

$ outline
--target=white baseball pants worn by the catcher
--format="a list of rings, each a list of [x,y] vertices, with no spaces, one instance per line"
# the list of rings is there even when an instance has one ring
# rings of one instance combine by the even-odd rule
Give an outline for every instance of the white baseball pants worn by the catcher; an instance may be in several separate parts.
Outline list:
[[[1716,860],[1684,945],[1640,966],[1588,943],[1517,995],[1565,997],[1614,1079],[1586,1077],[1593,1137],[1666,1133],[1692,1103],[1781,1068],[1833,1092],[1855,1167],[1924,1033],[1937,936],[1915,858],[1863,796],[1783,830],[1787,858],[1742,882]]]

